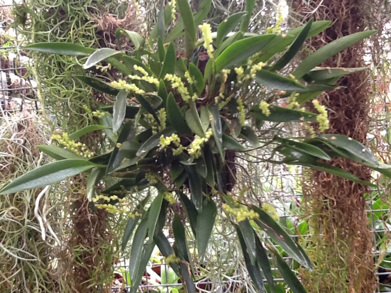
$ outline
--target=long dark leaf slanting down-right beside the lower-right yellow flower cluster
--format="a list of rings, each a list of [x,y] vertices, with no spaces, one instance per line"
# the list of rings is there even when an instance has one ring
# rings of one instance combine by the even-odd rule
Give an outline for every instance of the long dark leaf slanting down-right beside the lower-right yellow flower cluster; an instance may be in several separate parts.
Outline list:
[[[293,238],[282,229],[282,227],[272,219],[265,211],[257,206],[251,206],[259,214],[259,218],[254,221],[269,235],[281,248],[293,257],[299,264],[308,270],[312,270],[312,264],[304,250],[293,240]]]

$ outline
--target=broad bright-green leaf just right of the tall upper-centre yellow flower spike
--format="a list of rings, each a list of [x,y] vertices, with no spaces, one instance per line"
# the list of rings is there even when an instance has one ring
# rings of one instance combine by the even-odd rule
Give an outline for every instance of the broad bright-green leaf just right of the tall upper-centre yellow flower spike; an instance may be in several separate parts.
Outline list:
[[[260,52],[274,37],[275,35],[269,34],[234,42],[216,58],[216,72],[220,72],[222,69],[230,68],[234,65],[239,66],[248,57]]]

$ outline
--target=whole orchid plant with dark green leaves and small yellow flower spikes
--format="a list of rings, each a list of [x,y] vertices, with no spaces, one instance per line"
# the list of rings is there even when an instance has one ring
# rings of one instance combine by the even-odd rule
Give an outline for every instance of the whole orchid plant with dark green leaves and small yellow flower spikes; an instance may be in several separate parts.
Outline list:
[[[123,245],[126,246],[136,229],[130,252],[131,292],[137,290],[155,245],[174,272],[180,275],[185,289],[195,292],[183,221],[179,214],[174,216],[175,243],[172,246],[162,231],[166,214],[179,202],[202,262],[217,208],[221,207],[237,230],[246,267],[255,286],[264,291],[262,272],[273,287],[263,246],[268,242],[266,245],[287,284],[294,292],[304,292],[275,245],[305,268],[311,269],[310,260],[267,212],[247,203],[245,194],[233,192],[236,183],[234,161],[238,152],[261,147],[261,130],[267,127],[263,126],[264,122],[318,121],[320,128],[326,129],[328,121],[324,107],[314,100],[320,113],[316,114],[306,112],[300,105],[324,90],[335,89],[333,84],[341,76],[362,68],[316,66],[373,31],[346,36],[325,45],[286,77],[276,72],[292,60],[308,37],[325,29],[329,21],[310,21],[286,35],[248,33],[254,7],[254,2],[248,1],[246,12],[231,15],[218,26],[217,32],[212,33],[208,24],[202,24],[210,9],[210,0],[203,0],[195,14],[187,0],[177,0],[177,6],[181,19],[168,34],[165,25],[171,21],[170,5],[161,9],[159,21],[148,38],[122,29],[117,31],[118,39],[126,34],[133,42],[135,51],[131,56],[110,48],[94,50],[70,43],[36,43],[26,47],[43,53],[86,56],[86,69],[101,62],[109,63],[120,70],[124,78],[109,84],[91,76],[76,76],[96,90],[115,95],[115,104],[93,113],[100,117],[100,125],[90,125],[70,135],[54,136],[59,146],[40,146],[43,152],[58,161],[15,179],[0,193],[42,187],[86,172],[88,198],[98,208],[115,211],[124,209],[118,202],[121,203],[126,195],[153,190],[139,199],[124,233]],[[236,30],[237,26],[239,30]],[[197,27],[202,32],[200,40],[196,38]],[[181,54],[176,51],[173,41],[183,35],[186,50]],[[199,50],[200,46],[205,50]],[[254,102],[248,98],[248,92],[255,83],[262,91]],[[287,107],[277,105],[281,97],[289,97]],[[75,140],[98,129],[105,131],[113,148],[95,156]],[[365,146],[342,135],[312,135],[306,139],[275,136],[267,144],[275,146],[267,162],[311,167],[359,184],[370,185],[325,161],[342,156],[388,176],[391,173],[390,166],[378,162]],[[112,178],[118,178],[117,183],[97,192],[96,186],[113,182]],[[151,195],[152,203],[146,205]],[[261,240],[254,227],[270,237]]]

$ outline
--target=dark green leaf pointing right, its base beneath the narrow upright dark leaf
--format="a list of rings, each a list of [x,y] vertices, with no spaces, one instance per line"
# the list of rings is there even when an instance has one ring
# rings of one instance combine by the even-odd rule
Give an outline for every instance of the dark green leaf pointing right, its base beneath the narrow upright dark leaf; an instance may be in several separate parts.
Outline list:
[[[271,89],[277,90],[301,90],[306,87],[290,78],[283,77],[277,73],[261,69],[255,74],[255,81]]]

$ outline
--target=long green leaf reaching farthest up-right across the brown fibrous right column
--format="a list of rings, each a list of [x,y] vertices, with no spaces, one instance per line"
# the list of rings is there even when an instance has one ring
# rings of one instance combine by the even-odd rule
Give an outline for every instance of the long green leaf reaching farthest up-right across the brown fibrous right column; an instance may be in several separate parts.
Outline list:
[[[305,58],[304,61],[300,63],[300,65],[293,72],[293,75],[297,79],[302,78],[304,74],[308,73],[315,66],[318,66],[319,64],[323,63],[335,54],[338,54],[339,52],[345,50],[351,45],[360,42],[365,38],[368,38],[375,32],[376,30],[358,32],[352,35],[342,37],[333,42],[329,42],[328,44],[324,45],[320,49],[310,54],[307,58]]]

